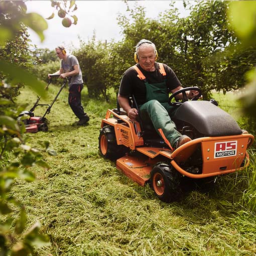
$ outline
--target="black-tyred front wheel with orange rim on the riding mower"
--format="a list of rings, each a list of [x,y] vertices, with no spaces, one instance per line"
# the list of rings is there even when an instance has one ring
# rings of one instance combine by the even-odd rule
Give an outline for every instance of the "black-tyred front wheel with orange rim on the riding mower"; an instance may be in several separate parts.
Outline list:
[[[181,175],[165,162],[156,164],[151,171],[150,186],[163,202],[170,203],[181,197]]]

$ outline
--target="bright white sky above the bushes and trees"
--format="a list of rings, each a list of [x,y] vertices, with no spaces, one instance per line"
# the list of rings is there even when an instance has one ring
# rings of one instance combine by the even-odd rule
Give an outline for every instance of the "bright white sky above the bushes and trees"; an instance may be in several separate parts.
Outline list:
[[[145,7],[146,17],[157,19],[161,12],[170,9],[169,0],[144,0],[144,1],[128,1],[129,8],[133,8],[136,4]],[[36,12],[43,18],[50,17],[53,13],[50,1],[27,1],[27,13]],[[74,15],[77,16],[77,25],[71,25],[69,28],[62,26],[62,19],[58,17],[55,11],[55,17],[46,20],[48,29],[44,32],[45,40],[40,41],[37,34],[29,29],[32,44],[36,44],[39,48],[49,48],[54,50],[56,46],[63,45],[66,49],[79,47],[79,37],[83,41],[91,39],[93,34],[96,40],[114,41],[121,40],[120,27],[117,24],[118,13],[126,14],[126,4],[119,0],[94,0],[94,1],[76,1],[77,10]],[[182,1],[175,1],[181,13],[181,17],[187,16],[188,12],[184,10]],[[140,39],[138,39],[139,41]]]

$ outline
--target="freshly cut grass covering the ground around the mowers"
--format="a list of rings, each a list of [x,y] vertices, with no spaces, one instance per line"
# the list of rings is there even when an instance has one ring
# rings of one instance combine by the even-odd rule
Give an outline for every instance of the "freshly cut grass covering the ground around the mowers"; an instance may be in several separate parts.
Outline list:
[[[57,91],[51,86],[52,98]],[[36,96],[25,92],[19,102],[33,105]],[[140,187],[98,154],[100,121],[115,99],[106,103],[83,91],[90,121],[73,126],[67,95],[64,89],[46,116],[48,132],[27,134],[33,147],[49,141],[57,151],[56,157],[44,155],[51,168],[35,167],[36,181],[17,181],[12,191],[26,205],[29,224],[39,220],[50,237],[51,245],[35,255],[256,255],[255,208],[243,200],[248,189],[255,191],[254,164],[220,177],[207,192],[163,203],[149,185]]]

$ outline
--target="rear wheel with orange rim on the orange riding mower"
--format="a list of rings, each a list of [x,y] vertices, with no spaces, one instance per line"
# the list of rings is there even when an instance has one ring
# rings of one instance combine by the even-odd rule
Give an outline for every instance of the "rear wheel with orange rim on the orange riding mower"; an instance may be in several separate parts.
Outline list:
[[[99,153],[102,157],[116,160],[123,157],[128,149],[123,145],[117,145],[114,127],[107,125],[100,129],[99,134]]]

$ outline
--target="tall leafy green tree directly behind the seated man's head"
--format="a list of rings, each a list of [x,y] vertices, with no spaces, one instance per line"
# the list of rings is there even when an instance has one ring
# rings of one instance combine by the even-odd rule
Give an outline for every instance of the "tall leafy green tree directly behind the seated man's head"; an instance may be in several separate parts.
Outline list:
[[[124,61],[119,61],[115,70],[123,72],[126,66],[123,62],[134,63],[135,45],[146,38],[156,44],[159,61],[173,68],[183,86],[199,86],[205,98],[210,97],[213,89],[225,92],[241,88],[244,72],[255,64],[255,51],[252,47],[232,51],[239,40],[230,29],[227,3],[201,1],[184,5],[190,11],[188,17],[179,18],[178,10],[170,5],[170,10],[161,14],[159,20],[146,18],[143,8],[127,8],[129,18],[118,17],[124,39],[119,44],[123,51],[116,59]],[[224,51],[232,54],[223,55]]]

